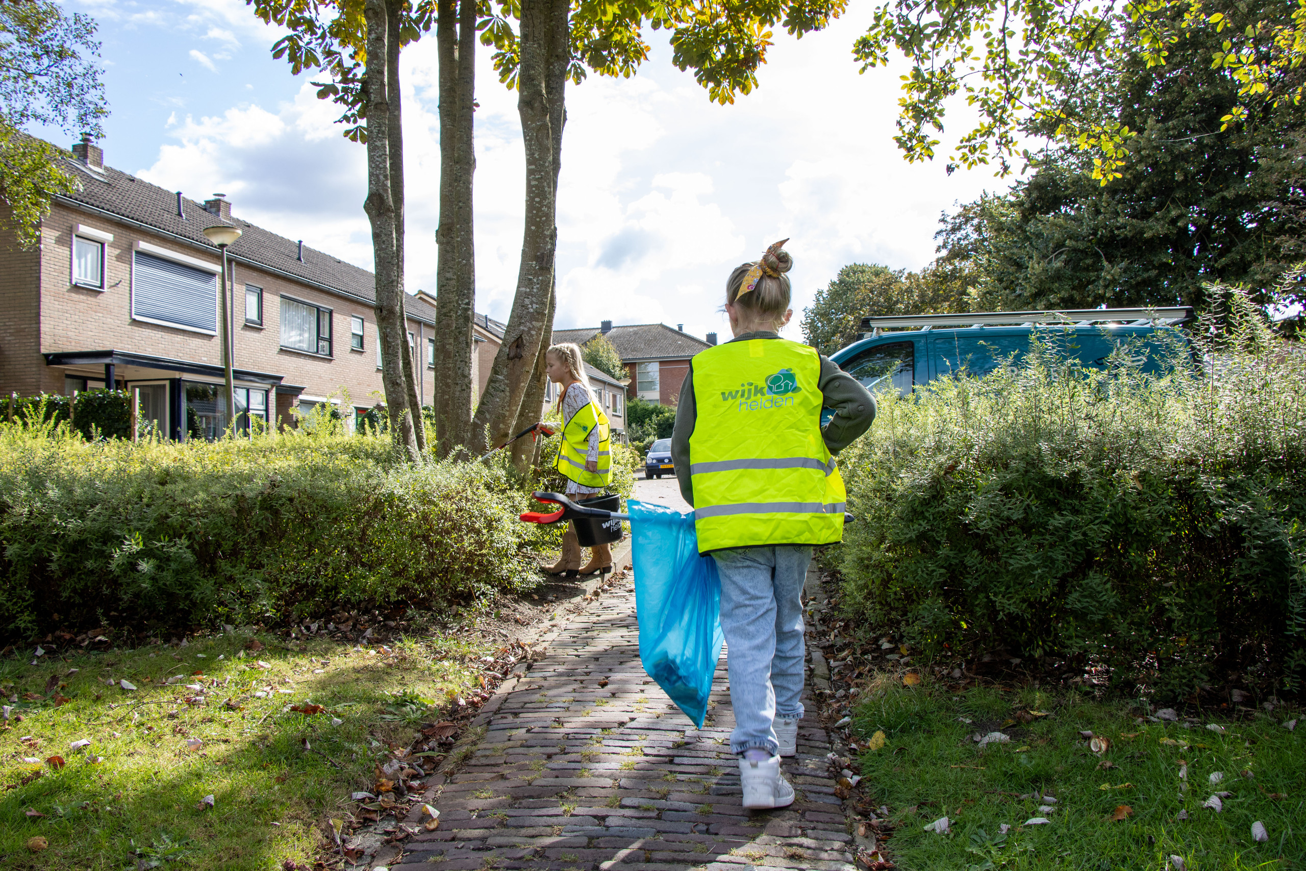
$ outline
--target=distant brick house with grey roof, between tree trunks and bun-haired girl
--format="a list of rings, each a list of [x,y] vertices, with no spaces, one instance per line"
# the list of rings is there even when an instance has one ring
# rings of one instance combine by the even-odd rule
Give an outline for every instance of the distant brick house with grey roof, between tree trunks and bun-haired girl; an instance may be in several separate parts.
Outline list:
[[[680,384],[690,371],[690,359],[705,347],[717,343],[717,334],[708,333],[707,341],[684,332],[683,325],[673,329],[666,324],[632,324],[613,326],[603,321],[597,329],[554,330],[554,342],[584,345],[596,336],[606,336],[629,372],[628,396],[675,405]]]

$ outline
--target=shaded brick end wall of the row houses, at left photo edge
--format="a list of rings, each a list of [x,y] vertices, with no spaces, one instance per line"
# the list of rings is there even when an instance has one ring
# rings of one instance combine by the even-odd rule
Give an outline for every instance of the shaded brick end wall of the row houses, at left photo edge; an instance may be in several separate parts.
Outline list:
[[[46,368],[37,321],[40,313],[40,251],[20,251],[0,202],[0,396],[40,390]]]

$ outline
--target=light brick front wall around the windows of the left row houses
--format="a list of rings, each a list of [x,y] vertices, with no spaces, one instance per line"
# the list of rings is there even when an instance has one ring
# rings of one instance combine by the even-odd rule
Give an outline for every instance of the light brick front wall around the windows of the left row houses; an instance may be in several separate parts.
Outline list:
[[[82,223],[104,232],[114,234],[106,252],[106,290],[94,291],[73,287],[72,235],[76,225]],[[168,248],[189,257],[206,260],[217,265],[217,252],[206,253],[197,248],[183,245],[166,236],[90,215],[88,213],[55,205],[44,222],[46,243],[40,251],[40,346],[37,351],[88,351],[119,350],[151,354],[171,359],[189,360],[221,366],[221,342],[215,336],[206,336],[184,329],[148,324],[132,320],[131,313],[131,265],[133,243],[148,242],[161,248]],[[14,272],[9,268],[12,255],[5,259],[5,269],[0,281]],[[374,392],[381,389],[381,372],[376,366],[376,317],[372,306],[338,296],[316,287],[282,278],[257,268],[236,264],[235,272],[235,368],[255,370],[281,375],[287,384],[302,385],[306,396],[326,396],[345,388],[354,406],[370,407],[377,397]],[[264,293],[263,326],[244,323],[244,287],[256,285]],[[0,285],[3,286],[3,285]],[[332,309],[332,355],[329,358],[304,354],[281,347],[281,296],[323,306]],[[4,304],[10,304],[10,294],[4,294]],[[30,307],[29,307],[30,308]],[[350,347],[350,317],[363,319],[363,350]],[[10,319],[7,317],[7,321]],[[27,316],[29,321],[35,319]],[[33,324],[33,329],[35,329]],[[418,337],[417,321],[409,321],[409,329]],[[422,333],[431,336],[432,328],[423,326]],[[424,342],[418,342],[418,366],[415,371],[423,379],[422,394],[427,402],[434,387],[431,370],[426,367]],[[44,367],[46,389],[63,389],[63,375]]]

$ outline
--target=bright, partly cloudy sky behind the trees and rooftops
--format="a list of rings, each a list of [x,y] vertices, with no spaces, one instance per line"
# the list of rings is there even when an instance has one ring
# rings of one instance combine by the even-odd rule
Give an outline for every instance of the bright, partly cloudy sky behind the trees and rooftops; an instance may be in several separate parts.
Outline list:
[[[104,161],[371,268],[363,148],[341,137],[285,61],[282,35],[235,0],[71,0],[97,18],[112,115]],[[727,333],[725,277],[790,236],[794,323],[841,266],[917,269],[932,257],[939,213],[1007,182],[896,150],[899,76],[858,74],[853,40],[871,8],[829,30],[777,34],[760,87],[709,103],[654,42],[629,80],[569,87],[559,189],[556,325],[684,324]],[[439,119],[434,38],[405,51],[407,283],[435,287]],[[505,320],[521,251],[524,158],[516,94],[478,55],[477,309]],[[960,114],[949,133],[966,127]],[[61,140],[60,140],[61,141]],[[786,330],[799,337],[797,326]]]

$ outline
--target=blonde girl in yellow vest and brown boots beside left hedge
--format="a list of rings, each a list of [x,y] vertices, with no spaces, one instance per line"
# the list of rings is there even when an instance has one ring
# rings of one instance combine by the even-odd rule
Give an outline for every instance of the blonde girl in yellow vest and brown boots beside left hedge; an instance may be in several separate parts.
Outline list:
[[[607,417],[594,401],[580,347],[572,342],[550,347],[545,351],[545,373],[550,381],[562,388],[554,407],[562,407],[563,441],[554,467],[567,478],[565,495],[575,500],[602,496],[603,488],[613,482]],[[596,545],[590,548],[585,568],[581,568],[580,559],[576,525],[567,524],[567,531],[563,533],[563,556],[545,572],[576,577],[596,572],[607,575],[613,571],[613,551],[609,545]]]

